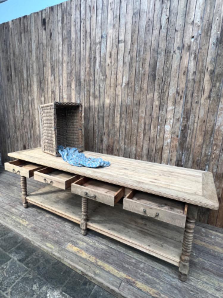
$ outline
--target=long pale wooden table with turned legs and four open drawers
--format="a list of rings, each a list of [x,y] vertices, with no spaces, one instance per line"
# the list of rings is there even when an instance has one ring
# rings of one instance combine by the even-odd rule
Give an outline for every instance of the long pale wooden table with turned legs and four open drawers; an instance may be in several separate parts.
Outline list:
[[[61,157],[43,153],[41,148],[9,153],[10,157],[19,159],[13,164],[31,163],[27,165],[28,174],[22,167],[12,168],[11,163],[5,165],[7,170],[21,175],[23,206],[28,207],[28,202],[36,204],[81,224],[83,235],[87,228],[93,229],[166,260],[179,266],[180,279],[186,280],[198,206],[219,208],[212,173],[84,153],[87,157],[101,157],[111,165],[97,169],[74,167]],[[40,170],[41,166],[51,170]],[[34,173],[34,178],[36,175],[38,179],[37,170],[45,177],[42,172],[48,173],[52,169],[65,172],[63,177],[69,173],[77,175],[69,181],[74,181],[71,190],[82,199],[78,196],[74,199],[70,188],[60,190],[51,185],[27,195],[26,177]],[[51,178],[43,181],[51,184]],[[63,187],[56,178],[53,181],[53,185]],[[93,189],[89,188],[91,181],[95,181]],[[114,201],[111,200],[112,191],[115,191]],[[124,203],[120,204],[122,197]]]

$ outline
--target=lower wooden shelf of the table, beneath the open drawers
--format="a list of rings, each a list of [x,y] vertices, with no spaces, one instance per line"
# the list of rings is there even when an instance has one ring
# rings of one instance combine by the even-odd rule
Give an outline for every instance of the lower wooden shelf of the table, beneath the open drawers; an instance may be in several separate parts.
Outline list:
[[[27,201],[80,224],[81,197],[48,185],[27,196]],[[183,231],[152,218],[89,200],[87,228],[179,266]],[[84,237],[84,236],[83,236]]]

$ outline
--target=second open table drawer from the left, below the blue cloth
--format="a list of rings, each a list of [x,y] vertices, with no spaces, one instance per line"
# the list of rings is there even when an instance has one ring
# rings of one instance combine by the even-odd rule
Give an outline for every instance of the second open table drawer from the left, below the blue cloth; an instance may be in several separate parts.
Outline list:
[[[80,176],[45,167],[44,169],[34,172],[34,179],[62,189],[67,189],[74,181],[80,179]]]

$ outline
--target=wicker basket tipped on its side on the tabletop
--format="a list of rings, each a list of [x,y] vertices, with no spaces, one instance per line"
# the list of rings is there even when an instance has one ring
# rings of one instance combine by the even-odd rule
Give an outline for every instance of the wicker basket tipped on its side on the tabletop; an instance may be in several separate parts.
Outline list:
[[[60,156],[57,146],[83,150],[82,105],[54,102],[39,106],[43,152]]]

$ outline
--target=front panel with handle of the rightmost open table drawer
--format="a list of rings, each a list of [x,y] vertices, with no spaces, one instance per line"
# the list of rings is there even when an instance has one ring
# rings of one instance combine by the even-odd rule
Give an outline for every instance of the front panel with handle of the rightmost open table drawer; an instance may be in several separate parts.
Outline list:
[[[147,204],[143,204],[138,201],[135,201],[134,199],[129,198],[124,198],[123,200],[123,209],[125,210],[145,215],[150,218],[155,218],[156,220],[164,221],[168,224],[173,224],[175,226],[185,227],[185,212],[179,213],[171,210],[165,210],[163,209],[162,204],[160,204],[160,206],[161,207],[155,207],[153,204],[150,204],[149,202]]]

